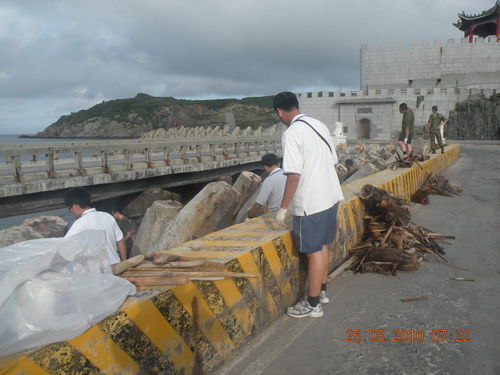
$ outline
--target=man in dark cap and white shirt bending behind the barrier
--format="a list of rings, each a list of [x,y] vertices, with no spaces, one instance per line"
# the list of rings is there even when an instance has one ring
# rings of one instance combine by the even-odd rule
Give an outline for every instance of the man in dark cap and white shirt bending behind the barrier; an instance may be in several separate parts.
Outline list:
[[[262,182],[260,192],[253,206],[248,210],[248,217],[262,215],[267,208],[269,211],[277,211],[280,207],[281,198],[285,191],[286,176],[280,168],[280,161],[275,154],[266,154],[262,157],[264,171],[267,174]]]

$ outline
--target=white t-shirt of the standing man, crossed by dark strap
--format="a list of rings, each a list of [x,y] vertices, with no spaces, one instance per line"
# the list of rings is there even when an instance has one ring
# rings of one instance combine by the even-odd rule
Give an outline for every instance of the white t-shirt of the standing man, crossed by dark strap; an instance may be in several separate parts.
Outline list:
[[[307,121],[330,145],[307,124]],[[312,215],[329,209],[344,199],[339,178],[335,171],[337,152],[325,124],[304,114],[293,118],[283,133],[283,172],[299,174],[300,180],[293,197],[295,216]]]

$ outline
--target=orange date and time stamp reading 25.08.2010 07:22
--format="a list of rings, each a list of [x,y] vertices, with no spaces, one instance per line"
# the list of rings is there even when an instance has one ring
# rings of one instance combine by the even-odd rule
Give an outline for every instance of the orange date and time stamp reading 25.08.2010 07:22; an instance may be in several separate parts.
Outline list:
[[[471,342],[469,329],[433,329],[430,335],[423,329],[348,329],[345,331],[345,342],[423,342],[426,339],[432,342]]]

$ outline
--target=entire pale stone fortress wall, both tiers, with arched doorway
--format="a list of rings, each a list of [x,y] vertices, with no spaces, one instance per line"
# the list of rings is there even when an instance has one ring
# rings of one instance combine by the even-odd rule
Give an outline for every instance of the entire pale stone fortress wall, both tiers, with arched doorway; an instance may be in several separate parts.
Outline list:
[[[301,111],[331,129],[342,122],[348,140],[389,141],[401,129],[399,104],[407,103],[419,131],[433,105],[447,117],[458,101],[471,94],[489,98],[500,92],[500,43],[493,39],[478,38],[474,43],[450,39],[446,45],[421,42],[373,50],[362,46],[362,89],[298,93]]]

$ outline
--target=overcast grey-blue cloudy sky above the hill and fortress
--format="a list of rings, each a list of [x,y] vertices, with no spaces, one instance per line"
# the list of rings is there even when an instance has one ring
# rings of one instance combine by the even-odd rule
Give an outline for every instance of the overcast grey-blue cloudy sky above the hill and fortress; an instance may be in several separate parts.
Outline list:
[[[0,134],[138,92],[357,89],[361,44],[460,38],[494,0],[0,0]]]

